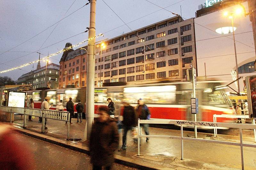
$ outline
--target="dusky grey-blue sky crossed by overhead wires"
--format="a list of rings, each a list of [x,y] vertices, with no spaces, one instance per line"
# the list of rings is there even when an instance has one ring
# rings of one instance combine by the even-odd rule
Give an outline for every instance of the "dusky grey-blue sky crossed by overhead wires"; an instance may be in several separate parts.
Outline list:
[[[184,19],[188,19],[194,18],[195,12],[198,10],[198,5],[205,2],[204,0],[149,0],[154,3],[151,4],[146,0],[104,1],[119,15],[120,18],[122,18],[122,20],[124,20],[125,23],[140,18],[128,24],[132,30],[173,17],[172,13],[163,9],[161,10],[160,7],[157,7],[154,4],[163,8],[171,5],[166,9],[177,14],[180,14],[181,5],[182,17]],[[0,71],[37,60],[39,58],[39,54],[35,52],[42,53],[42,58],[48,53],[52,54],[62,50],[67,42],[74,45],[88,39],[88,32],[82,33],[86,30],[86,27],[89,27],[90,22],[90,4],[84,6],[87,2],[88,1],[86,0],[0,1],[2,9],[0,12]],[[73,5],[71,6],[71,4]],[[77,9],[79,10],[76,11]],[[72,12],[74,13],[71,14]],[[150,14],[152,12],[155,13]],[[68,16],[69,14],[71,15]],[[143,17],[145,15],[148,16]],[[68,17],[60,21],[63,16]],[[53,25],[58,21],[60,22],[58,25],[56,24],[57,26]],[[116,14],[111,11],[102,0],[97,0],[96,35],[100,33],[105,34],[104,37],[99,37],[96,41],[106,38],[111,39],[131,31],[126,25],[121,25],[124,25],[124,23],[116,16]],[[119,28],[112,30],[116,27]],[[82,46],[85,45],[86,43]],[[62,53],[51,57],[50,62],[59,64],[61,55]],[[41,61],[40,63],[41,66],[45,65],[44,61]],[[33,69],[33,64],[20,69],[1,73],[0,76],[9,76],[16,81],[22,74],[31,71]],[[36,64],[34,64],[34,69],[36,69]]]

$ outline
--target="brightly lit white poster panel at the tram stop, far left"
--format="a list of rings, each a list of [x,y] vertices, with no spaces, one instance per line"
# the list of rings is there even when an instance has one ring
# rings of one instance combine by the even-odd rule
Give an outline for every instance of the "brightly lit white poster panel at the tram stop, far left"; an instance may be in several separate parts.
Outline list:
[[[8,93],[8,106],[11,107],[25,107],[25,92],[9,91]]]

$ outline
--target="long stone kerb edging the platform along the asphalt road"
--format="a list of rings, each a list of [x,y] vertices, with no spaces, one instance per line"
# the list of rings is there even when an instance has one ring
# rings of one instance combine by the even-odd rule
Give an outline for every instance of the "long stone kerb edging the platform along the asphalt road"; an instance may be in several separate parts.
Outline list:
[[[46,136],[44,134],[39,134],[39,133],[32,132],[32,131],[22,129],[22,128],[18,128],[18,127],[12,127],[12,129],[19,133],[22,133],[22,134],[25,134],[25,135],[28,135],[28,136],[31,136],[31,137],[34,137],[34,138],[37,138],[40,140],[47,141],[52,144],[60,145],[60,146],[66,147],[71,150],[83,152],[86,154],[90,153],[88,147],[77,145],[71,141],[64,141],[64,140],[52,138],[52,137]],[[134,168],[142,169],[142,170],[174,170],[173,168],[169,168],[169,167],[165,167],[165,166],[161,166],[161,165],[157,165],[157,164],[152,164],[152,163],[148,163],[148,162],[144,162],[144,161],[134,160],[132,158],[127,158],[127,157],[120,156],[120,155],[115,155],[115,162],[125,165],[125,166],[130,166],[130,167],[134,167]]]

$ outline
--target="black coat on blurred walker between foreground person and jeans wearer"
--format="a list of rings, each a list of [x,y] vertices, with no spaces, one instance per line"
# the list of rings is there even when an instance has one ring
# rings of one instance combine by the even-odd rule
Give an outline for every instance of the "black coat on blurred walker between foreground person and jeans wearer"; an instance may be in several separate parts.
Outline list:
[[[138,125],[138,116],[132,106],[124,106],[123,124],[126,126]]]

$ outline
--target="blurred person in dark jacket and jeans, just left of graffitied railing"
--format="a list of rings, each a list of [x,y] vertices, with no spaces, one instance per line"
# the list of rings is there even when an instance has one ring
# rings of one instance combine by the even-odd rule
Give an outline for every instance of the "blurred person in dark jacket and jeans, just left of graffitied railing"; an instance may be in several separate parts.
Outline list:
[[[139,98],[138,100],[138,107],[136,109],[136,114],[140,118],[140,120],[149,120],[150,119],[150,111],[148,109],[148,106],[144,104],[142,98]],[[140,124],[140,135],[141,135],[141,130],[142,127],[146,133],[146,135],[149,135],[149,124]],[[146,139],[146,142],[148,142],[149,138]]]

